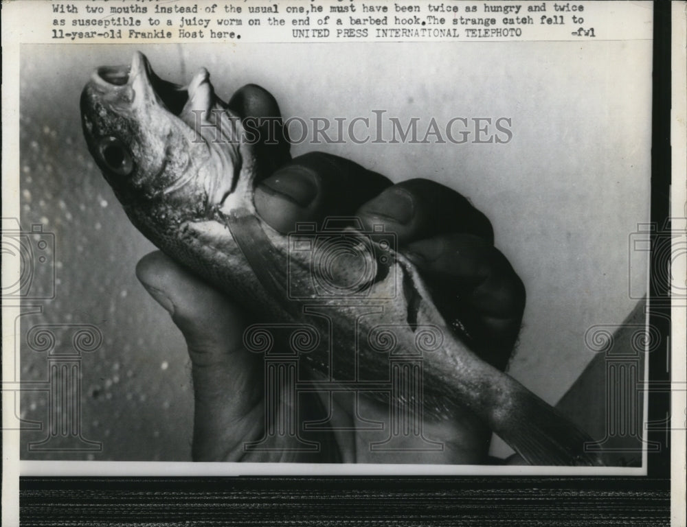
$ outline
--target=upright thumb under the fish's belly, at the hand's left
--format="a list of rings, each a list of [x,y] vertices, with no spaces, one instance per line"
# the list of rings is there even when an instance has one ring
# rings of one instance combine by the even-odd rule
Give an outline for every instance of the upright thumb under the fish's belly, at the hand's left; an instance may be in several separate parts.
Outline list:
[[[251,414],[262,396],[262,370],[256,357],[242,349],[243,316],[225,296],[160,252],[141,259],[136,274],[170,312],[188,345],[194,458],[231,457],[261,421]]]

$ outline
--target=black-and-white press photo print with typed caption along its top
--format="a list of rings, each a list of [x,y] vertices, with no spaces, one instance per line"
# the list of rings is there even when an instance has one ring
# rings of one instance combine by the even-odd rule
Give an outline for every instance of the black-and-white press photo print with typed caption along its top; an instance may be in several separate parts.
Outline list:
[[[653,3],[50,4],[3,59],[20,476],[670,474]]]

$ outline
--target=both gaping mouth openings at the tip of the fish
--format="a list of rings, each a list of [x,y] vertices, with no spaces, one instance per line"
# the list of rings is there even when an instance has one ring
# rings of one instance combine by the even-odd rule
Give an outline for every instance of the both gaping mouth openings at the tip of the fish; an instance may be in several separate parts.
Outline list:
[[[99,67],[93,72],[91,81],[102,94],[123,94],[133,105],[152,100],[177,117],[190,99],[188,88],[159,78],[140,51],[133,55],[131,65]]]

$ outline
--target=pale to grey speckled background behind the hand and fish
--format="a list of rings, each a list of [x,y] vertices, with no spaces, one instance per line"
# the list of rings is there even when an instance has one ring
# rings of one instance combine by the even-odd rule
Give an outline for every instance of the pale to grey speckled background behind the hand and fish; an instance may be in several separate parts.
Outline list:
[[[510,117],[513,141],[493,144],[297,145],[347,156],[392,180],[424,176],[469,196],[528,290],[511,374],[555,402],[592,358],[584,334],[620,323],[641,290],[629,235],[649,217],[651,42],[443,45],[139,46],[163,78],[205,66],[228,99],[247,82],[285,117]],[[131,59],[126,46],[21,50],[21,224],[54,233],[56,296],[36,324],[91,324],[102,346],[82,360],[82,436],[102,452],[27,451],[23,459],[190,460],[192,387],[181,336],[135,278],[153,247],[129,224],[95,168],[78,97],[94,67]],[[36,267],[32,287],[49,286]],[[21,375],[46,376],[45,353],[23,347]],[[21,417],[46,420],[47,397]],[[499,446],[495,451],[498,453]]]

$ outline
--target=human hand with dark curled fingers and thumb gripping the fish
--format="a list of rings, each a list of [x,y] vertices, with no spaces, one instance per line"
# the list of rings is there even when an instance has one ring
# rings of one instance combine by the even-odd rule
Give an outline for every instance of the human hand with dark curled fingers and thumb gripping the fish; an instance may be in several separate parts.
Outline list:
[[[279,115],[273,97],[257,86],[245,86],[229,106],[244,118]],[[447,323],[460,320],[473,351],[504,368],[519,331],[525,292],[494,248],[486,217],[460,194],[429,180],[392,185],[379,174],[328,154],[291,160],[288,142],[281,139],[256,145],[262,164],[254,201],[261,218],[281,233],[293,231],[297,222],[322,222],[330,215],[356,215],[366,229],[383,224],[396,233],[399,249],[423,274]],[[264,375],[262,358],[243,348],[250,320],[240,298],[228,298],[159,252],[139,262],[137,276],[170,311],[188,344],[194,459],[483,462],[491,432],[467,410],[450,419],[425,419],[423,434],[443,443],[439,452],[372,452],[370,443],[383,441],[388,432],[354,430],[354,418],[387,421],[388,405],[345,394],[331,400],[322,394],[299,399],[299,421],[324,419],[330,404],[336,408],[332,413],[338,421],[332,428],[301,434],[321,443],[320,452],[296,452],[289,438],[275,440],[271,452],[245,452],[245,443],[264,434]]]

